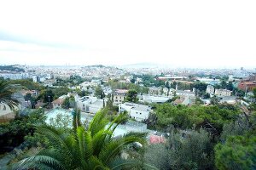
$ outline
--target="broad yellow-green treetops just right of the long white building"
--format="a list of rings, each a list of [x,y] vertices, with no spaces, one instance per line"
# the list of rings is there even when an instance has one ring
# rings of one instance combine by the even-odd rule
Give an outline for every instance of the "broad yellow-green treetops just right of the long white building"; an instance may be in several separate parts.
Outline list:
[[[240,113],[237,108],[230,110],[217,105],[193,105],[189,107],[171,104],[156,105],[155,112],[157,116],[156,127],[158,129],[166,129],[171,125],[183,129],[200,128],[208,122],[213,124],[218,133],[221,132],[224,122],[236,120]]]

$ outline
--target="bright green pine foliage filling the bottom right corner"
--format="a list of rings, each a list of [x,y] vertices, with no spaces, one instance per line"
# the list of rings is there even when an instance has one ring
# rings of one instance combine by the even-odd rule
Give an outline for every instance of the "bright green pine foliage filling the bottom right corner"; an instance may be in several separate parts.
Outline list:
[[[221,141],[215,146],[218,169],[254,169],[256,166],[256,113],[224,125]]]

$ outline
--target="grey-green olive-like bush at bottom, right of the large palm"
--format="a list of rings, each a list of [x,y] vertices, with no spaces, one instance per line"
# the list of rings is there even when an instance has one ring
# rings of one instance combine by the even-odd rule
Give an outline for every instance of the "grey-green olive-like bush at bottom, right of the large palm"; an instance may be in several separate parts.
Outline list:
[[[145,161],[159,169],[212,169],[213,155],[209,134],[201,129],[172,131],[166,144],[152,144]]]

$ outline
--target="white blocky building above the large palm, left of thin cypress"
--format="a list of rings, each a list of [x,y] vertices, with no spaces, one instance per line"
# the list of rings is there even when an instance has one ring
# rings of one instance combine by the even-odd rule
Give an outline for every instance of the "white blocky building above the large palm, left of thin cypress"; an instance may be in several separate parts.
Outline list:
[[[88,112],[88,113],[96,113],[103,108],[103,102],[105,105],[107,104],[108,99],[97,99],[92,96],[84,96],[79,98],[79,96],[75,97],[76,105],[80,111]]]

